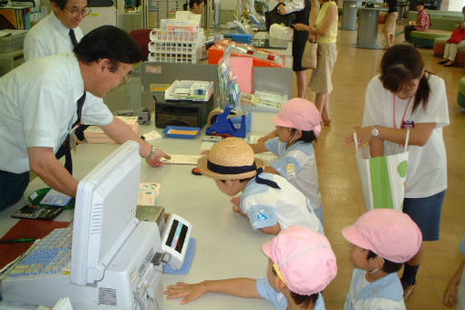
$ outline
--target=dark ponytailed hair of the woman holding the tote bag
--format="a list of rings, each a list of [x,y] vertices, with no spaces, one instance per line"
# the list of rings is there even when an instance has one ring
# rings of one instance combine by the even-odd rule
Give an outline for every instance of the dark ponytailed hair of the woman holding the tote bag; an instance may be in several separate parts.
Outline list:
[[[379,79],[383,87],[391,92],[397,92],[404,86],[411,83],[415,78],[420,78],[413,109],[418,108],[422,102],[423,109],[426,109],[429,99],[429,72],[423,74],[423,59],[415,47],[406,44],[399,44],[389,47],[381,59],[379,66]],[[423,74],[423,76],[421,76]]]

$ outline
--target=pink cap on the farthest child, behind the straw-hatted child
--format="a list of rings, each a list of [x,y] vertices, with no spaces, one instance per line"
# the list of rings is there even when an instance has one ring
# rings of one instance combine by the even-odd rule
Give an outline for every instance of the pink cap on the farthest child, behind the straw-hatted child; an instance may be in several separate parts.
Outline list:
[[[277,126],[299,130],[313,130],[315,137],[321,131],[321,116],[313,102],[304,98],[292,98],[284,103],[274,116],[273,122]]]

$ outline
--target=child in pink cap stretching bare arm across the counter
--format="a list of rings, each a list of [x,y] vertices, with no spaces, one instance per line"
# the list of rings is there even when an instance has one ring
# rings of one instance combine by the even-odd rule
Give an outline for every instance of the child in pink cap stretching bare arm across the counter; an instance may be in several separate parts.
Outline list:
[[[167,298],[184,297],[182,304],[214,292],[264,298],[279,310],[325,309],[320,292],[336,277],[337,266],[336,255],[323,234],[292,226],[264,243],[262,249],[270,259],[266,278],[177,283],[168,286],[165,294]]]

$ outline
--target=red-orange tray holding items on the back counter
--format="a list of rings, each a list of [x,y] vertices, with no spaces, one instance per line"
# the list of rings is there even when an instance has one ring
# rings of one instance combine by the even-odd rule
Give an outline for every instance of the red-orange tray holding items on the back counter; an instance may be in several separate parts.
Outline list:
[[[224,54],[224,48],[227,45],[233,45],[231,56],[233,57],[252,57],[253,67],[284,67],[285,57],[282,54],[269,52],[267,50],[251,47],[245,44],[240,44],[230,40],[221,40],[216,42],[208,49],[208,63],[212,65],[218,64],[218,61]]]

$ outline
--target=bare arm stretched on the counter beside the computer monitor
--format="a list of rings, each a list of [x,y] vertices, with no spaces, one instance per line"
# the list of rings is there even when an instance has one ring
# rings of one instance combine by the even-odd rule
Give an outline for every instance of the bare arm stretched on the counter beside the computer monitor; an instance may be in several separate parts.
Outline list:
[[[261,298],[256,288],[256,280],[251,278],[233,278],[223,280],[205,280],[198,284],[178,282],[170,285],[164,294],[168,299],[184,297],[181,304],[187,304],[205,293],[232,294],[245,298]]]

